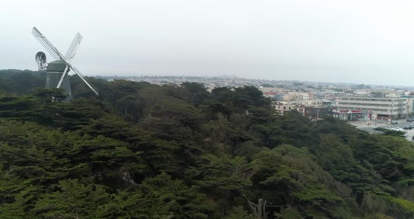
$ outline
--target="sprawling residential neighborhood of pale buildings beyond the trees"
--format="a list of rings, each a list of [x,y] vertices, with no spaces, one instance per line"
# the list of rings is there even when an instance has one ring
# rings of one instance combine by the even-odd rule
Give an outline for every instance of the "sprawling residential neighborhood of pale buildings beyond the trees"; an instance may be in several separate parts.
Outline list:
[[[414,87],[312,81],[274,81],[241,77],[133,76],[100,77],[109,81],[126,79],[152,84],[180,86],[191,81],[203,84],[207,91],[216,87],[255,86],[272,99],[276,112],[300,112],[309,119],[326,116],[345,121],[391,121],[405,119],[414,112]]]

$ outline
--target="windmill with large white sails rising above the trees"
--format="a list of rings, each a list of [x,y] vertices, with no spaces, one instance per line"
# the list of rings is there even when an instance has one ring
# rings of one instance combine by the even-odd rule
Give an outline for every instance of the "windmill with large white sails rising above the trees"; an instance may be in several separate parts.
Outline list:
[[[89,88],[91,88],[96,95],[98,95],[98,92],[96,92],[95,89],[93,89],[93,87],[85,80],[84,74],[79,72],[79,70],[71,64],[71,60],[74,58],[74,55],[76,54],[79,44],[81,44],[81,40],[83,38],[79,32],[76,33],[72,44],[70,44],[65,55],[62,55],[62,53],[60,53],[58,49],[51,44],[51,41],[48,41],[48,39],[46,39],[46,37],[41,34],[36,27],[33,27],[32,34],[40,42],[40,44],[46,48],[46,51],[48,51],[48,53],[55,58],[53,62],[46,62],[46,54],[44,52],[38,52],[35,55],[39,71],[46,71],[46,88],[62,88],[65,90],[67,100],[72,99],[72,91],[68,77],[68,72],[72,70]]]

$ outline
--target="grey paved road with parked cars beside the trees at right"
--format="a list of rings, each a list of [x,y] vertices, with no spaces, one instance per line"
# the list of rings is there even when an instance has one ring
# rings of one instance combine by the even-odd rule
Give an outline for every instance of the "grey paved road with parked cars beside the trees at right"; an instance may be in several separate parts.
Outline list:
[[[350,121],[349,124],[352,124],[353,126],[356,126],[356,128],[359,128],[360,130],[368,131],[369,133],[378,133],[378,131],[375,131],[375,127],[382,127],[382,128],[403,128],[404,126],[407,126],[409,124],[414,124],[412,121],[406,121],[406,120],[394,120],[398,121],[398,124],[392,125],[392,124],[386,124],[385,121],[377,121],[377,126],[375,126],[375,120],[371,121],[371,125],[367,125],[367,121]],[[404,130],[406,132],[406,139],[413,141],[413,135],[414,135],[414,128],[411,130]]]

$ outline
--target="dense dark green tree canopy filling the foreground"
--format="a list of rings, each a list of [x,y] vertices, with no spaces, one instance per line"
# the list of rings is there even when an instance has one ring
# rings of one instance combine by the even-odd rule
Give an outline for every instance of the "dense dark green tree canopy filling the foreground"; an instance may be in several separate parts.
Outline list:
[[[72,77],[51,102],[18,74],[41,79],[0,75],[0,218],[414,218],[398,136],[281,116],[251,86],[89,79],[97,97]]]

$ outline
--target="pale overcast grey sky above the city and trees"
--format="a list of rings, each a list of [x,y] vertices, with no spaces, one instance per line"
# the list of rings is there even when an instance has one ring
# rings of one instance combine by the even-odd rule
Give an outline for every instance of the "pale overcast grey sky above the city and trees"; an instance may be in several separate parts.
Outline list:
[[[86,75],[410,85],[413,11],[414,1],[2,1],[0,69],[36,69],[36,26],[62,53],[81,32],[73,62]]]

